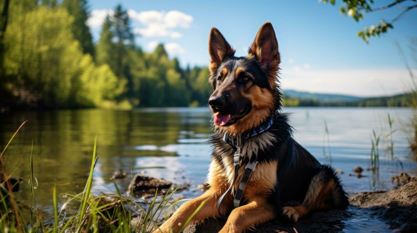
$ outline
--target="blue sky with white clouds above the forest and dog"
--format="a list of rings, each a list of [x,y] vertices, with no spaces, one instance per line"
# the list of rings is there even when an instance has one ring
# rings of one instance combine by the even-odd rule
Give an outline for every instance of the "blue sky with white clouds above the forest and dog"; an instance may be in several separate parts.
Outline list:
[[[283,89],[376,96],[409,87],[409,76],[394,41],[406,50],[417,37],[417,10],[394,24],[394,30],[366,44],[356,32],[389,21],[400,10],[366,14],[355,22],[339,14],[337,5],[316,0],[275,1],[109,1],[90,0],[89,25],[98,40],[106,13],[121,3],[131,16],[136,44],[151,51],[159,42],[171,57],[187,64],[207,65],[207,40],[217,27],[236,49],[246,55],[259,27],[271,21],[281,53]],[[378,1],[375,6],[391,1]],[[339,5],[338,5],[339,4]],[[407,5],[407,4],[405,4]],[[406,50],[407,51],[407,50]]]

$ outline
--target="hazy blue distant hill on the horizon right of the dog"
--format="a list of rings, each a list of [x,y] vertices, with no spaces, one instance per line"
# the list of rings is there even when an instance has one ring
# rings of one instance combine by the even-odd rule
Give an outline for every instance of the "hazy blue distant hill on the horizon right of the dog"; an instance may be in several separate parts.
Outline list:
[[[364,97],[357,97],[343,94],[322,94],[311,92],[299,92],[296,90],[283,90],[284,98],[316,100],[320,103],[358,102]]]

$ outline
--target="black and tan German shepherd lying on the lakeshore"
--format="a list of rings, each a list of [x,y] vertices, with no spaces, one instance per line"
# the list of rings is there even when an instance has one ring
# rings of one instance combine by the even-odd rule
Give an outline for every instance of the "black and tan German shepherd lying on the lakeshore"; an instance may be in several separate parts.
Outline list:
[[[213,27],[208,52],[209,82],[214,91],[208,102],[216,133],[210,139],[214,147],[210,188],[184,203],[156,232],[178,232],[204,200],[192,222],[229,214],[221,233],[244,232],[273,219],[296,222],[317,210],[346,209],[347,194],[334,170],[321,165],[292,138],[288,116],[281,113],[280,55],[271,23],[261,26],[246,57],[235,57],[235,50]],[[258,134],[245,139],[241,148],[228,140],[254,130]],[[241,153],[237,173],[236,151]],[[254,162],[256,169],[245,178],[245,164]],[[246,188],[241,203],[234,206],[238,192],[232,194],[228,188],[239,190],[243,179]]]

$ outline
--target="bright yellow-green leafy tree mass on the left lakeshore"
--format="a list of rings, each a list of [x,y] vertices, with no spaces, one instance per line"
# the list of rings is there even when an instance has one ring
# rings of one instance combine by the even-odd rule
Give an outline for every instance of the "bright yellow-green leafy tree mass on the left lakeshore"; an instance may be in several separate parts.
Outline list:
[[[72,23],[66,10],[44,6],[10,23],[4,69],[16,97],[47,107],[93,107],[118,94],[115,75],[96,67],[73,39]]]

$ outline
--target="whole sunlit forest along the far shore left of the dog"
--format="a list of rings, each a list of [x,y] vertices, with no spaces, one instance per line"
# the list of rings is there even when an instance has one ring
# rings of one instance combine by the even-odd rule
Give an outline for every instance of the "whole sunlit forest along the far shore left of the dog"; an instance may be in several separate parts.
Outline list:
[[[93,43],[87,0],[0,0],[0,109],[201,106],[207,67],[135,44],[121,5]]]

